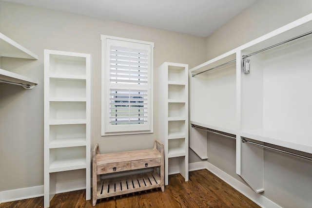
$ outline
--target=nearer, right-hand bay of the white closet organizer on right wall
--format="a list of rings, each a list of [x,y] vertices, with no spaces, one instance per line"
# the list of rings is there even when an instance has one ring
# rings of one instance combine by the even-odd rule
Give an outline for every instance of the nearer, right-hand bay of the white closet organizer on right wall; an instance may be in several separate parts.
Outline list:
[[[311,16],[309,19],[276,30],[277,35],[259,38],[241,50],[251,70],[240,77],[239,133],[243,139],[312,154],[312,35],[296,38],[311,32]],[[271,49],[258,53],[268,47]],[[254,191],[263,191],[263,148],[243,143],[240,156],[241,176]]]

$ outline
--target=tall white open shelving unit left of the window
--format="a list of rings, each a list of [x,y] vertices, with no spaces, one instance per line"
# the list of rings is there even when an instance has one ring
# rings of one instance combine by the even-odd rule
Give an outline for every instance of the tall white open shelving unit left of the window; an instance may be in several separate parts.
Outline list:
[[[86,200],[91,198],[90,137],[91,56],[44,50],[45,208],[61,189],[83,188]],[[60,186],[68,171],[84,185]]]

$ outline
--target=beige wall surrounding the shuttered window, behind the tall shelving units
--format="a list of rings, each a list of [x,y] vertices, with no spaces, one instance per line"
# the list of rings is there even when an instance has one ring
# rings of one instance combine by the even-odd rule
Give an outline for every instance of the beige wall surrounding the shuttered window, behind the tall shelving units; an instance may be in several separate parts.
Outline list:
[[[0,191],[43,185],[43,49],[91,54],[94,61],[94,143],[100,151],[151,148],[158,137],[158,66],[205,61],[205,38],[0,1],[0,32],[39,56],[1,58],[1,68],[39,79],[33,90],[0,84]],[[155,43],[154,133],[101,136],[100,35]],[[161,98],[161,97],[160,97]]]

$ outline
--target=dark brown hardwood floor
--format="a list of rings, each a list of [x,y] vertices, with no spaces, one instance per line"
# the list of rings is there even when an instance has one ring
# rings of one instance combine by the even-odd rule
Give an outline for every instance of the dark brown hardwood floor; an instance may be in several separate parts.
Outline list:
[[[0,204],[0,208],[43,208],[43,197]],[[92,208],[85,190],[56,194],[50,208]],[[99,199],[94,208],[259,208],[208,170],[190,172],[188,182],[180,174],[169,176],[165,192],[152,189]]]

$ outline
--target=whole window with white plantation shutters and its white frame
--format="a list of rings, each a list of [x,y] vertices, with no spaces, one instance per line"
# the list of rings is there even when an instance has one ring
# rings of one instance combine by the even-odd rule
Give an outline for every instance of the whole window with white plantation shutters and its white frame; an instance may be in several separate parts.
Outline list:
[[[154,43],[102,41],[102,135],[153,132]]]

